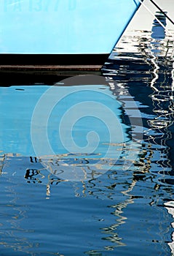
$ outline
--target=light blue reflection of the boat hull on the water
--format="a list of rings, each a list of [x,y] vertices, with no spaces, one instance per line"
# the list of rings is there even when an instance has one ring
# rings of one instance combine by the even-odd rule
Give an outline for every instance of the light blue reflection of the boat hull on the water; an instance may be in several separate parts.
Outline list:
[[[128,169],[141,145],[128,134],[122,104],[103,84],[106,79],[88,86],[87,78],[40,89],[23,86],[22,92],[17,86],[1,88],[2,154],[32,156],[31,162],[41,162],[64,181],[97,178],[116,163]],[[67,85],[74,79],[82,86]]]

